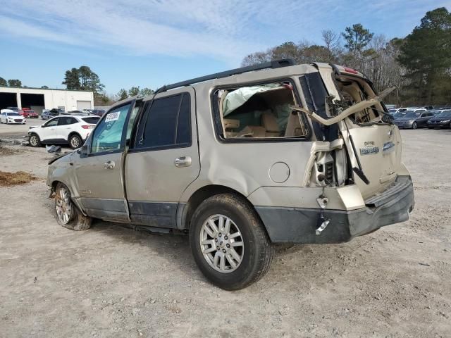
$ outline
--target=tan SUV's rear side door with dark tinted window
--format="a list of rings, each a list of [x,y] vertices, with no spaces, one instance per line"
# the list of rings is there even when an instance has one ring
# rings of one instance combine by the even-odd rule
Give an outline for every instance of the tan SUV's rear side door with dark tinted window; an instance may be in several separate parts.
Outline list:
[[[158,96],[138,120],[125,185],[133,223],[176,227],[180,197],[200,170],[194,90]]]

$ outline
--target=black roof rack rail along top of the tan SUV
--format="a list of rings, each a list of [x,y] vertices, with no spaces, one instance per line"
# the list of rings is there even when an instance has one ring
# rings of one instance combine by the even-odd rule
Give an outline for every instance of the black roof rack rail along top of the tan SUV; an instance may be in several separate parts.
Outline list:
[[[266,69],[266,68],[281,68],[281,67],[288,67],[290,65],[295,65],[295,64],[296,64],[295,60],[293,60],[292,58],[283,58],[280,60],[259,63],[257,65],[247,65],[246,67],[242,67],[242,68],[235,68],[232,70],[226,70],[225,72],[214,73],[211,75],[205,75],[205,76],[201,76],[201,77],[194,77],[194,79],[191,79],[191,80],[185,80],[182,82],[167,84],[167,85],[164,85],[163,87],[157,89],[156,93],[157,92],[158,93],[166,92],[166,90],[174,89],[174,88],[178,88],[178,87],[189,86],[190,84],[194,84],[194,83],[198,83],[198,82],[204,82],[204,81],[214,80],[214,79],[221,79],[222,77],[228,77],[230,75],[237,75],[237,74],[252,72],[252,70],[261,70],[261,69]]]

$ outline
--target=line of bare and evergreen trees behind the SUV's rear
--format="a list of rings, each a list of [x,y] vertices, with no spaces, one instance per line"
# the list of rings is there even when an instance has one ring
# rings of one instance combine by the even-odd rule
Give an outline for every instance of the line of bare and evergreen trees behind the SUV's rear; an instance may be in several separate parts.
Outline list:
[[[367,75],[381,91],[395,86],[387,99],[398,106],[451,104],[451,13],[428,11],[404,38],[376,35],[362,24],[343,32],[323,30],[322,44],[285,42],[246,56],[242,65],[280,58],[297,63],[337,63]]]

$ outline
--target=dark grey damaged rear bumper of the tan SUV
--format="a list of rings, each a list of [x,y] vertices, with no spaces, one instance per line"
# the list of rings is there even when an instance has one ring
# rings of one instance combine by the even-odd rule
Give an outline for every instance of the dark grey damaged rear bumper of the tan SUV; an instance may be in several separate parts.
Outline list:
[[[376,200],[376,203],[373,203]],[[385,225],[404,222],[414,208],[414,187],[408,176],[397,178],[393,189],[371,199],[366,208],[354,211],[324,210],[330,220],[316,234],[320,209],[256,207],[257,213],[274,243],[343,243],[373,232]]]

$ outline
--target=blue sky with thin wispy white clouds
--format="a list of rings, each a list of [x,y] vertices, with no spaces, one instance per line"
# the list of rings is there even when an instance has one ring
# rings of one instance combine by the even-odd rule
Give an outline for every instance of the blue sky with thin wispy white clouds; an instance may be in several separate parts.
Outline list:
[[[110,94],[155,89],[354,23],[404,37],[440,6],[451,0],[0,0],[0,77],[64,88],[66,70],[88,65]]]

